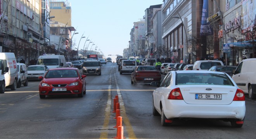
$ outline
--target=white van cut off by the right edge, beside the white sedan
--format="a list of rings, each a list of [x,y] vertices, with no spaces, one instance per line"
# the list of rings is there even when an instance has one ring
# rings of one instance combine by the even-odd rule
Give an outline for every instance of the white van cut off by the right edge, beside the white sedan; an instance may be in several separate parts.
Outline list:
[[[256,99],[256,58],[244,59],[232,71],[232,79],[249,98]]]

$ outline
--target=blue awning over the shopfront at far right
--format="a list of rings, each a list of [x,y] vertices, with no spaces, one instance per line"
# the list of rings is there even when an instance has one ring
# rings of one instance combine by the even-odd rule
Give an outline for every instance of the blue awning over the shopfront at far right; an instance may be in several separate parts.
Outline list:
[[[232,49],[249,49],[253,47],[253,43],[256,45],[256,40],[254,41],[243,41],[243,42],[231,42],[223,44],[223,46],[228,45]]]

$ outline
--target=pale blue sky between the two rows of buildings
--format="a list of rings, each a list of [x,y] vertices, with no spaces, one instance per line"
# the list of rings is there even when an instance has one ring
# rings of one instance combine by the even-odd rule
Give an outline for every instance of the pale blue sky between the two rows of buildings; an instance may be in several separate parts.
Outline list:
[[[163,0],[68,0],[68,2],[71,3],[72,26],[78,32],[73,36],[73,42],[76,44],[74,47],[79,50],[86,50],[88,45],[88,50],[96,47],[104,56],[123,55],[123,50],[129,47],[133,22],[143,19],[145,10],[150,5],[163,4]],[[85,38],[81,39],[82,35]],[[86,41],[87,37],[92,43]]]

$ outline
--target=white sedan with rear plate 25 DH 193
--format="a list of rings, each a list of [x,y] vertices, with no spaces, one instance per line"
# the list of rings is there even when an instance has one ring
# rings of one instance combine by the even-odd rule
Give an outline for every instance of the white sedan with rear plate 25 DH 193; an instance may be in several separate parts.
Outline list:
[[[246,112],[244,92],[227,73],[217,71],[171,71],[153,92],[153,115],[161,125],[175,118],[221,119],[242,127]]]

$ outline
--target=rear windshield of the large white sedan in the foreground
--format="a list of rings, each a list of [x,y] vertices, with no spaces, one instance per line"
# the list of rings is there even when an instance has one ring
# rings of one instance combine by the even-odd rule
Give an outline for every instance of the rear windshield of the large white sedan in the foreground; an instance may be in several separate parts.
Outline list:
[[[225,74],[216,73],[178,73],[176,85],[227,85],[234,86]]]

